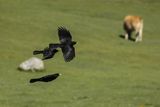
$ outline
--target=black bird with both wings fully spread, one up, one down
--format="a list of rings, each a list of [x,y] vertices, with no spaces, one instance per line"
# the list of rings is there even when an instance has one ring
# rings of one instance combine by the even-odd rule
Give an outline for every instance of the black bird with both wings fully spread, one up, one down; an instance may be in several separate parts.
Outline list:
[[[71,33],[64,27],[58,28],[58,36],[61,42],[60,47],[63,53],[64,60],[66,62],[69,62],[75,57],[75,48],[73,47],[73,45],[75,45],[76,42],[72,41]]]

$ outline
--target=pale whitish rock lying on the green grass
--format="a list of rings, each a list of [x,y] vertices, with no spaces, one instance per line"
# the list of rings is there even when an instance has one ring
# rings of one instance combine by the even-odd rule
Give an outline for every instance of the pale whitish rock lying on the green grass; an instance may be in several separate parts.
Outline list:
[[[41,59],[32,57],[24,62],[22,62],[19,67],[20,70],[24,71],[39,71],[44,70],[44,63]]]

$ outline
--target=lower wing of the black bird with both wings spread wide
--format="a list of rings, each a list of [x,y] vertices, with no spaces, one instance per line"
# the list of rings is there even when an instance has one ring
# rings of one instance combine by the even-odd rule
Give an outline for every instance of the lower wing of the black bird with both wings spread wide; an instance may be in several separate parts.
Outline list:
[[[62,47],[62,52],[65,62],[69,62],[75,57],[75,48],[73,46],[66,45]]]

